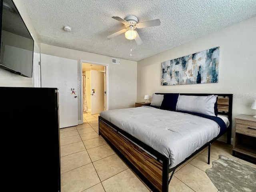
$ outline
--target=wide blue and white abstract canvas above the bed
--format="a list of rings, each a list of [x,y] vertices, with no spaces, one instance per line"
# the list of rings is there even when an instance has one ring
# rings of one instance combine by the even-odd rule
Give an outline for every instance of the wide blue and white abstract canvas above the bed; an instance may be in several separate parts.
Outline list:
[[[220,47],[162,62],[161,85],[217,83]]]

